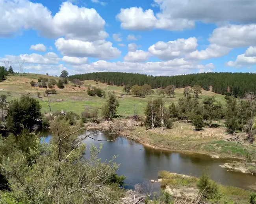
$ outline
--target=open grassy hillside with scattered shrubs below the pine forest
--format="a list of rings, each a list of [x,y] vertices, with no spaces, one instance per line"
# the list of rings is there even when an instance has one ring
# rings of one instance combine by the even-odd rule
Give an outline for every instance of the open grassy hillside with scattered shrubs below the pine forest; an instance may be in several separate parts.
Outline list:
[[[23,94],[30,94],[30,96],[36,97],[41,105],[42,112],[49,112],[48,103],[45,101],[47,98],[44,96],[45,88],[32,87],[30,81],[37,81],[39,77],[47,77],[48,79],[54,78],[58,81],[58,77],[39,75],[39,74],[24,74],[19,75],[8,75],[5,81],[0,83],[0,94],[6,94],[7,99],[11,99],[22,96]],[[104,98],[88,96],[86,90],[87,86],[98,86],[105,91],[115,91],[115,94],[119,97],[120,107],[118,114],[121,116],[129,116],[134,114],[134,106],[137,106],[138,114],[144,115],[144,107],[146,107],[148,99],[159,97],[157,94],[152,96],[146,96],[145,98],[135,97],[134,95],[126,95],[122,92],[123,87],[121,86],[108,86],[106,84],[98,83],[95,81],[87,80],[83,81],[81,88],[74,87],[74,84],[69,82],[65,85],[64,89],[59,89],[57,86],[54,88],[57,91],[56,95],[49,95],[52,101],[52,110],[65,110],[74,111],[80,114],[85,108],[100,108],[106,101]],[[166,97],[166,105],[169,106],[172,102],[176,103],[178,98],[183,97],[184,88],[178,88],[175,90],[176,95],[174,98]],[[41,93],[41,98],[37,97],[37,92]],[[203,100],[206,96],[215,96],[216,99],[224,103],[224,96],[215,94],[211,91],[202,90],[200,94],[200,100]]]

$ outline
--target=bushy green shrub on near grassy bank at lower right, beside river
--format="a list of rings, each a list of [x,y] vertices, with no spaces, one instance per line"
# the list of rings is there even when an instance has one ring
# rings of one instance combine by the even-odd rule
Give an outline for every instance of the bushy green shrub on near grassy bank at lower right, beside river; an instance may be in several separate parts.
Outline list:
[[[197,187],[203,192],[204,198],[213,198],[218,192],[217,184],[210,180],[210,176],[205,172],[198,179]]]

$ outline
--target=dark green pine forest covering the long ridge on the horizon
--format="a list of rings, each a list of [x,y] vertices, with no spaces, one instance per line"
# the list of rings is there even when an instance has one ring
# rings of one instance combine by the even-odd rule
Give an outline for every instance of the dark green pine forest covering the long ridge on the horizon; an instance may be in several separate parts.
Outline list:
[[[246,92],[256,92],[256,74],[251,73],[214,72],[154,77],[152,75],[122,72],[95,72],[71,75],[69,79],[95,80],[117,86],[149,84],[152,88],[165,88],[168,85],[175,85],[177,88],[200,85],[204,90],[210,90],[210,87],[212,87],[212,91],[216,94],[226,95],[229,91],[235,97],[243,97]]]

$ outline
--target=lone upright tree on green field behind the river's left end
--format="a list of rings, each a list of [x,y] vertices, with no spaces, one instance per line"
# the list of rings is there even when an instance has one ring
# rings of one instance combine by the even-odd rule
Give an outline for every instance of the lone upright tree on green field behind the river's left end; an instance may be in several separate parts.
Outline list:
[[[109,93],[109,98],[107,103],[102,107],[102,116],[105,119],[111,119],[117,113],[117,108],[119,107],[119,102],[114,94]]]

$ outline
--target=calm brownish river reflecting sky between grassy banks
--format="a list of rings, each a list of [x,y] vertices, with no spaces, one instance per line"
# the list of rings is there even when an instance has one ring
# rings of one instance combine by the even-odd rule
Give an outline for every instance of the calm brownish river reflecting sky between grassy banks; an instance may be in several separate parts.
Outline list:
[[[113,140],[113,136],[99,134],[96,140]],[[46,142],[49,138],[46,139]],[[89,158],[89,145],[91,143],[99,147],[103,143],[102,151],[98,155],[102,161],[110,160],[113,155],[119,155],[115,162],[120,164],[118,175],[127,177],[125,180],[128,188],[135,184],[148,183],[153,191],[159,190],[159,184],[151,184],[150,180],[157,180],[158,171],[167,170],[173,173],[192,175],[199,177],[205,169],[208,169],[211,179],[224,185],[241,187],[256,191],[256,176],[245,173],[227,171],[219,165],[230,162],[230,159],[211,158],[204,154],[178,153],[163,151],[146,147],[140,143],[119,137],[113,142],[100,142],[86,138],[87,144],[85,157]]]

